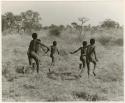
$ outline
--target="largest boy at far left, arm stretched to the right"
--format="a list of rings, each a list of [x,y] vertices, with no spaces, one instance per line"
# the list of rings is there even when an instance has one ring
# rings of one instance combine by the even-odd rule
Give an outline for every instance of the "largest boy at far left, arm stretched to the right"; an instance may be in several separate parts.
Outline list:
[[[31,40],[29,48],[28,48],[28,59],[29,59],[29,65],[34,68],[34,64],[32,63],[32,60],[34,59],[37,65],[37,73],[39,73],[39,47],[46,47],[47,50],[49,50],[49,48],[47,46],[45,46],[44,44],[42,44],[40,42],[39,39],[37,39],[37,33],[33,33],[32,34],[32,38],[33,40]]]

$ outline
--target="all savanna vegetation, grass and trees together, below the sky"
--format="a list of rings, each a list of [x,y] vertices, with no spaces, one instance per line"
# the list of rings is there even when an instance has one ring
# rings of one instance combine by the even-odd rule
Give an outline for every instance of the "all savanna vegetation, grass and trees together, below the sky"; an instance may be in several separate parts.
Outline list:
[[[116,21],[106,19],[97,26],[86,25],[88,18],[78,18],[69,25],[42,26],[38,12],[28,10],[20,15],[2,15],[2,100],[3,101],[123,101],[123,28]],[[53,73],[48,73],[51,59],[41,50],[40,73],[28,68],[27,49],[31,34],[38,33],[41,42],[50,46],[58,43],[60,55]],[[95,38],[97,76],[87,68],[77,78],[79,55],[69,54],[89,44]],[[26,68],[24,74],[22,69]],[[93,69],[93,68],[92,68]],[[92,70],[91,69],[91,70]],[[73,75],[70,75],[73,74]]]

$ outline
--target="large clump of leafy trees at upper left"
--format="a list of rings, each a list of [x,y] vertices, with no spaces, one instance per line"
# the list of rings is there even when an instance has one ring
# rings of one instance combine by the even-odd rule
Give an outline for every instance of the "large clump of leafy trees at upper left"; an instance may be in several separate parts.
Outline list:
[[[2,31],[4,30],[20,30],[31,31],[40,30],[42,25],[40,23],[41,17],[38,12],[27,10],[21,12],[19,15],[14,15],[12,12],[7,12],[2,15]]]

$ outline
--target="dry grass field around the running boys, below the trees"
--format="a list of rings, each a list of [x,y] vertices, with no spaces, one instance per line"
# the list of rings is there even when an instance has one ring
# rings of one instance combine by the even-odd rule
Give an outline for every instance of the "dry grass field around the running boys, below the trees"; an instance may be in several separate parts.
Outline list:
[[[4,34],[4,33],[3,33]],[[27,49],[31,36],[11,34],[2,37],[2,100],[3,101],[123,101],[123,31],[103,30],[86,33],[85,39],[96,39],[99,62],[87,78],[87,70],[79,75],[79,55],[69,54],[81,46],[77,34],[62,32],[60,37],[39,32],[42,43],[50,46],[57,40],[60,50],[58,64],[48,73],[51,59],[49,53],[41,52],[40,73],[18,73],[27,68]],[[92,69],[91,69],[92,71]],[[73,75],[70,75],[73,74]]]

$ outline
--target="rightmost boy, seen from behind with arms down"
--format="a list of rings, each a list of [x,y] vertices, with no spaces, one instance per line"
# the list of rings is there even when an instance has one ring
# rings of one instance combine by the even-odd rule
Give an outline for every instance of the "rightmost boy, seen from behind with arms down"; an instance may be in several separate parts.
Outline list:
[[[95,50],[95,39],[90,39],[90,45],[87,47],[86,51],[86,63],[88,68],[88,77],[90,72],[90,62],[94,64],[93,75],[96,76],[94,70],[96,68],[96,61],[98,61],[96,57],[96,50]]]

